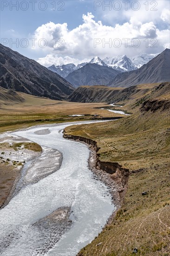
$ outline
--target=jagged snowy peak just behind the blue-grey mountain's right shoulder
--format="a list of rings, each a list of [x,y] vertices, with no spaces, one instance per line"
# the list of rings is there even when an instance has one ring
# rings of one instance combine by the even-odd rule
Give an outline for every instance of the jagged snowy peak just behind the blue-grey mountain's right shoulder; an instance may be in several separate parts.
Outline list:
[[[119,55],[113,58],[106,57],[103,61],[105,61],[108,67],[112,67],[121,72],[137,69],[137,66],[126,55]]]

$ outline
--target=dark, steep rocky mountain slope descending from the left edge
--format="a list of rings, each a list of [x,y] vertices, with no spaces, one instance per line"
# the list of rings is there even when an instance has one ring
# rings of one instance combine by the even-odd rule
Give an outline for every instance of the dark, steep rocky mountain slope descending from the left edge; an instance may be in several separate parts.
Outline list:
[[[55,100],[65,100],[72,85],[34,60],[0,44],[0,86]]]

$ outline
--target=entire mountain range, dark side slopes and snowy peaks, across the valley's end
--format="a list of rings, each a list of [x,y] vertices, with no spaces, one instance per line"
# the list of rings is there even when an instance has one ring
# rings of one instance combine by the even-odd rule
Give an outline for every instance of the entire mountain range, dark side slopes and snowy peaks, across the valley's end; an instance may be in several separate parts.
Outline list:
[[[144,56],[133,57],[133,61],[138,62],[139,66],[144,63],[144,59]],[[107,58],[105,61],[94,57],[90,62],[77,67],[74,64],[63,65],[64,68],[67,67],[67,73],[70,69],[75,69],[64,79],[36,61],[0,44],[0,87],[55,100],[78,99],[78,95],[82,94],[84,101],[89,98],[88,89],[75,91],[81,85],[106,85],[119,90],[118,87],[129,88],[139,84],[170,81],[170,49],[165,49],[147,64],[129,72],[121,72],[119,68],[108,66],[115,67],[117,63],[122,63],[119,67],[130,68],[132,62],[125,55],[122,58]],[[110,95],[113,94],[115,91]]]

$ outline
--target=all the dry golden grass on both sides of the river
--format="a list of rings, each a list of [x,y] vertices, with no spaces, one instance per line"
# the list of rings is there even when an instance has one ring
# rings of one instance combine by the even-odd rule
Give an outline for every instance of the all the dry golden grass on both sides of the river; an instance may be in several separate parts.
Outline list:
[[[141,85],[138,87],[141,89],[139,93],[132,95],[130,101],[118,102],[118,105],[124,105],[121,110],[133,113],[131,116],[118,121],[65,129],[67,134],[97,141],[101,161],[119,162],[130,169],[128,189],[121,209],[99,236],[80,251],[81,256],[133,256],[134,248],[138,249],[136,255],[169,255],[170,115],[168,111],[139,111],[145,99],[160,95],[165,99],[170,98],[166,91],[161,93],[163,88],[156,86]],[[84,121],[91,119],[94,114],[118,116],[98,109],[103,106],[108,108],[105,103],[52,101],[21,95],[25,98],[24,102],[13,105],[9,102],[9,105],[2,106],[2,131],[52,122]],[[73,114],[88,116],[68,117]],[[11,120],[11,116],[14,119]],[[15,162],[16,164],[18,163]],[[6,167],[5,165],[4,168]],[[14,172],[13,166],[13,174]],[[9,174],[7,169],[5,175],[8,177]],[[146,195],[142,195],[144,191],[147,192]],[[98,243],[101,244],[96,246]]]

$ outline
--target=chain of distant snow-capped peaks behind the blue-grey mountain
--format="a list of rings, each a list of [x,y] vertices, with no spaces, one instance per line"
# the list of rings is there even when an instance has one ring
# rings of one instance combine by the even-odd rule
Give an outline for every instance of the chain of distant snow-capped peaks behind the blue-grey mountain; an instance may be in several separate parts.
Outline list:
[[[111,67],[113,69],[116,69],[120,72],[129,72],[132,70],[136,70],[139,67],[143,66],[147,62],[149,62],[151,59],[153,59],[157,54],[138,54],[136,56],[133,56],[131,58],[128,58],[126,55],[118,55],[116,57],[106,57],[104,60],[101,60],[98,56],[92,58],[89,62],[80,63],[77,66],[73,63],[61,65],[61,66],[55,66],[52,65],[48,67],[53,72],[56,72],[60,76],[66,78],[66,76],[73,71],[84,67],[86,64],[98,64],[100,66],[104,67]]]

